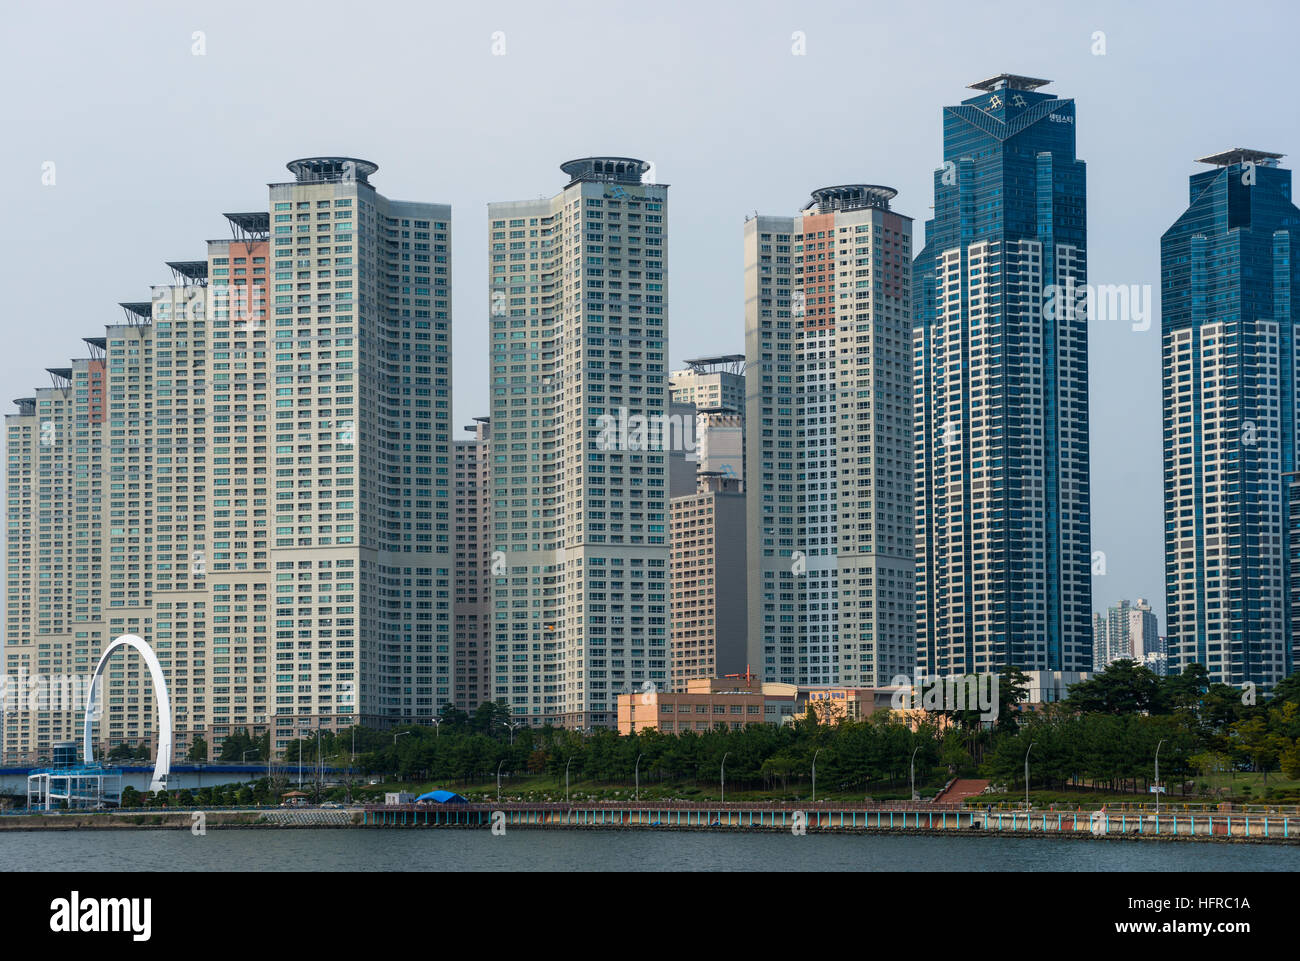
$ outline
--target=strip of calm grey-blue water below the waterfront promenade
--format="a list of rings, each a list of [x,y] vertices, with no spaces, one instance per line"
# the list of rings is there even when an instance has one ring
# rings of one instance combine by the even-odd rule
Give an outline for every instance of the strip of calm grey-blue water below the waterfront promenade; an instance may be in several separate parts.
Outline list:
[[[0,871],[1296,871],[1300,848],[1024,837],[358,830],[17,831]]]

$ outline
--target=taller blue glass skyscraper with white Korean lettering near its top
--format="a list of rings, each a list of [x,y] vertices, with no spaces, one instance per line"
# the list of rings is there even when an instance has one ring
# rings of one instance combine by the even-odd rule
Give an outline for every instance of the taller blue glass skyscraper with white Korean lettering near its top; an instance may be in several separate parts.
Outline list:
[[[1092,665],[1086,172],[1046,83],[944,108],[913,296],[923,675]]]

